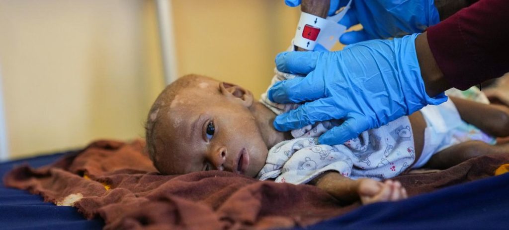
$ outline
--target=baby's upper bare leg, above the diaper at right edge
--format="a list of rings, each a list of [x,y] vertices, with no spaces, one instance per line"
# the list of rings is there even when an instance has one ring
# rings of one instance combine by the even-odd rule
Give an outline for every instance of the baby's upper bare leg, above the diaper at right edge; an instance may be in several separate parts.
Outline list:
[[[453,96],[449,98],[453,100],[462,120],[489,135],[509,136],[509,108],[506,106],[487,105]]]

